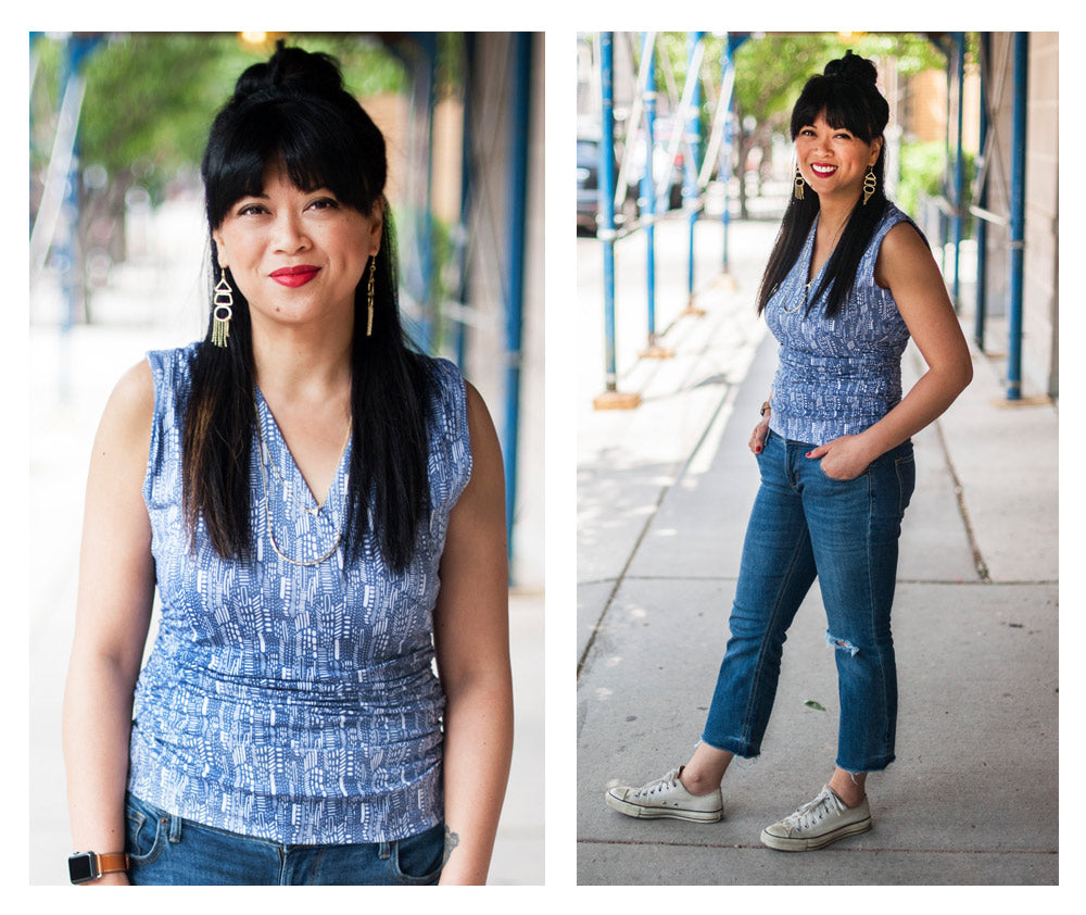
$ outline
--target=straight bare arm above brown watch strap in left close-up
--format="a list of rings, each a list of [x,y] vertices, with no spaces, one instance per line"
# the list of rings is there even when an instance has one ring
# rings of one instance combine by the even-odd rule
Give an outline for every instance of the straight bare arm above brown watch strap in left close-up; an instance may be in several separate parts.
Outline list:
[[[75,851],[124,851],[132,692],[154,596],[142,499],[154,389],[142,362],[121,379],[94,438],[75,641],[64,694],[64,763]],[[100,883],[125,883],[123,874]]]

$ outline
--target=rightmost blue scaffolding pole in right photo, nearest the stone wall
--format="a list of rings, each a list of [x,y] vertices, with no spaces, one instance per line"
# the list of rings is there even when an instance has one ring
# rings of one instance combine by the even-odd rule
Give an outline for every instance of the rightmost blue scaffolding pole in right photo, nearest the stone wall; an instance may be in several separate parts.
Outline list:
[[[1022,285],[1025,247],[1025,143],[1030,34],[1014,33],[1014,108],[1011,140],[1010,300],[1007,399],[1022,398]]]

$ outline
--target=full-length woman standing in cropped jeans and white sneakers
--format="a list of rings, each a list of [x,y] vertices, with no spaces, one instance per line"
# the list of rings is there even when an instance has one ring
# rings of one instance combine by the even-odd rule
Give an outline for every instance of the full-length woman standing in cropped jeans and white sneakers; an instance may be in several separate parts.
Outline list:
[[[795,191],[758,296],[780,365],[749,441],[761,486],[702,740],[684,766],[606,795],[629,816],[720,819],[721,779],[734,755],[760,751],[785,632],[817,575],[837,662],[837,757],[812,801],[762,831],[781,851],[871,827],[867,774],[894,760],[889,614],[915,480],[910,436],[972,378],[931,252],[884,195],[889,110],[875,77],[848,52],[808,80],[792,113]],[[909,336],[929,368],[902,399]]]

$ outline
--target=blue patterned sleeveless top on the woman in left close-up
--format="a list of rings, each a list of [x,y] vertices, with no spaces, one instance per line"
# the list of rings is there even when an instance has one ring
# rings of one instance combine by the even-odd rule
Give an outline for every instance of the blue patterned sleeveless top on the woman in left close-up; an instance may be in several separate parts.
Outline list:
[[[286,844],[392,841],[440,824],[444,694],[432,611],[450,511],[471,473],[463,379],[433,362],[432,507],[405,572],[386,566],[371,531],[353,563],[342,547],[315,565],[273,549],[269,527],[295,561],[331,549],[351,449],[318,510],[260,391],[254,559],[224,561],[202,521],[189,549],[181,506],[197,346],[148,353],[155,405],[143,498],[162,615],[136,688],[128,790]]]

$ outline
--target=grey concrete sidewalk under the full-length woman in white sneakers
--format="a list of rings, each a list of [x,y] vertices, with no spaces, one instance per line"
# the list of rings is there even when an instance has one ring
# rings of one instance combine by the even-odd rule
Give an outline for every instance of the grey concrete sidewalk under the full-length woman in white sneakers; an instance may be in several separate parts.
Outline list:
[[[733,224],[734,285],[708,285],[705,315],[675,318],[673,359],[628,363],[619,388],[640,408],[594,412],[599,388],[582,386],[578,882],[1057,883],[1058,411],[1001,404],[1003,363],[978,354],[970,388],[914,438],[894,616],[898,759],[869,779],[874,828],[812,854],[758,840],[833,767],[818,588],[790,631],[762,755],[724,779],[723,822],[639,822],[603,802],[611,785],[685,762],[704,725],[757,487],[746,442],[775,369],[753,316],[774,228]],[[601,256],[592,246],[582,261]],[[591,283],[579,291],[591,324],[598,298]],[[906,386],[920,371],[910,348]]]

